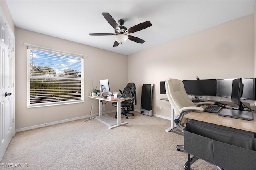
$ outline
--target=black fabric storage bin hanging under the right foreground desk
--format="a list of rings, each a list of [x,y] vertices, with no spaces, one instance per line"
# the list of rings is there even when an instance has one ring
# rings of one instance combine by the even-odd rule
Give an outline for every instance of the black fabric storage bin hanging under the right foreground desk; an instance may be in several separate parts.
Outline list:
[[[184,150],[225,170],[256,170],[256,134],[190,120]]]

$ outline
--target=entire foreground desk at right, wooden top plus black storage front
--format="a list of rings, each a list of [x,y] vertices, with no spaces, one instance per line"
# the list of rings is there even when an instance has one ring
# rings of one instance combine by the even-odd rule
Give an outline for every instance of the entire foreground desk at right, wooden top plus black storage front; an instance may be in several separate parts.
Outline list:
[[[207,106],[204,106],[204,107],[207,107]],[[214,126],[214,128],[223,129],[222,132],[224,132],[226,135],[220,136],[220,138],[222,138],[222,139],[225,137],[230,139],[230,135],[232,135],[234,133],[231,130],[226,131],[224,127],[234,129],[234,131],[236,131],[236,133],[234,133],[235,135],[238,134],[237,130],[239,130],[239,129],[243,130],[243,131],[247,131],[250,134],[254,133],[254,138],[255,138],[256,137],[255,136],[255,133],[256,133],[256,113],[255,113],[255,111],[253,111],[253,114],[254,114],[254,121],[236,119],[236,118],[231,118],[231,117],[223,117],[223,116],[219,116],[218,114],[215,114],[215,113],[208,113],[208,112],[204,112],[204,111],[200,111],[200,112],[192,111],[192,112],[184,115],[184,117],[187,118],[188,120],[191,120],[191,119],[196,120],[196,124],[198,124],[199,126],[202,126],[202,125],[200,125],[200,124],[202,124],[200,122],[203,122],[203,123],[211,123],[209,125]],[[195,131],[195,130],[193,130],[193,131]],[[209,131],[209,130],[207,130],[207,131]],[[215,133],[215,130],[208,133],[209,134],[208,136],[212,136],[213,133]],[[216,133],[216,134],[218,134],[218,133]],[[245,138],[246,136],[244,134],[245,134],[245,132],[242,132],[242,134],[238,135],[238,137]],[[232,145],[230,143],[223,143],[223,142],[219,142],[218,140],[216,141],[216,135],[214,138],[197,135],[197,133],[193,133],[192,131],[187,131],[187,129],[184,129],[184,145],[186,143],[185,151],[188,152],[188,163],[185,164],[184,166],[188,166],[187,167],[188,170],[190,170],[190,154],[193,154],[198,158],[202,158],[210,163],[214,163],[214,164],[216,164],[216,166],[224,167],[225,169],[227,167],[230,169],[241,169],[242,166],[246,167],[246,169],[256,169],[256,163],[255,163],[256,151],[255,150],[244,149],[243,147],[238,147],[238,146]],[[199,146],[200,148],[197,148],[195,146],[195,143],[192,142],[193,140],[197,141],[198,145],[200,145]],[[234,140],[235,140],[235,138],[234,138]],[[254,139],[254,141],[255,141],[255,139]],[[249,140],[248,140],[248,142],[249,142]],[[246,145],[246,143],[243,143],[243,144]],[[254,146],[253,146],[253,144],[251,145],[251,143],[249,145],[252,148],[255,147],[255,143],[254,143]],[[220,148],[221,148],[221,150],[220,150]],[[226,154],[226,153],[228,153],[228,154]],[[208,157],[205,155],[207,155]],[[234,156],[236,158],[234,158],[232,156]],[[227,159],[230,161],[225,162],[222,160],[222,158],[223,158],[223,160]],[[241,166],[241,167],[237,168],[237,166]]]

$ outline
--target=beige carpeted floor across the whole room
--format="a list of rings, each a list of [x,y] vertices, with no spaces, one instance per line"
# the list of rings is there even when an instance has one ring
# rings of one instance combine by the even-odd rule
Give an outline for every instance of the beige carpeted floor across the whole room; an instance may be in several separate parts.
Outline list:
[[[96,119],[83,119],[18,132],[2,158],[1,170],[184,170],[187,154],[175,150],[183,145],[183,136],[165,132],[170,121],[133,113],[130,119],[122,115],[128,124],[114,129]],[[215,170],[203,160],[192,169]]]

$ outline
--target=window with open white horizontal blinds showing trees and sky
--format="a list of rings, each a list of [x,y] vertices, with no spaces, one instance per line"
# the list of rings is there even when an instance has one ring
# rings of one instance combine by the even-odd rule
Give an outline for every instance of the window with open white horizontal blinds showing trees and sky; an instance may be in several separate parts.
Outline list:
[[[83,57],[28,47],[28,107],[82,102]]]

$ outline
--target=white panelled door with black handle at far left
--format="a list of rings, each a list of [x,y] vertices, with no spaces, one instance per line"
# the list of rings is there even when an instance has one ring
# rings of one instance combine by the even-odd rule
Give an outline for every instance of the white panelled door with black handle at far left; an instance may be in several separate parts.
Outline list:
[[[0,20],[0,160],[8,147],[14,130],[13,115],[13,46],[14,36],[6,26],[2,13]]]

